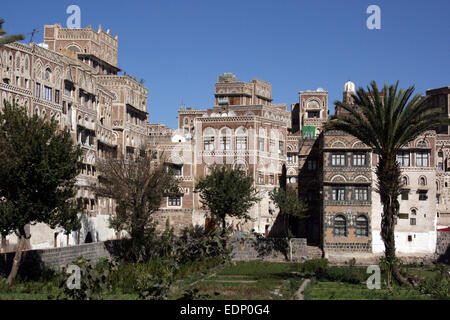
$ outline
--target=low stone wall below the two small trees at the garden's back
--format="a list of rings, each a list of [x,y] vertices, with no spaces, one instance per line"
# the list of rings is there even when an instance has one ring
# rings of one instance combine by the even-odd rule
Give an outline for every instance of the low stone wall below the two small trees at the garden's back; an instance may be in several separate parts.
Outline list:
[[[264,237],[233,237],[230,240],[233,247],[231,259],[234,261],[263,260],[271,262],[288,261],[289,242],[282,238]],[[306,258],[306,239],[291,239],[292,261],[300,261]]]

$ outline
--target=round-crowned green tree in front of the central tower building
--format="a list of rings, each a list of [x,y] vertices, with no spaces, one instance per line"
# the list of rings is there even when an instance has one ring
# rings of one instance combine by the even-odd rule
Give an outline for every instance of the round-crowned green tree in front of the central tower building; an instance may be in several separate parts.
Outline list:
[[[253,187],[253,179],[240,168],[214,166],[211,173],[202,177],[195,186],[200,202],[211,216],[222,223],[226,232],[226,217],[251,220],[248,210],[260,199]]]

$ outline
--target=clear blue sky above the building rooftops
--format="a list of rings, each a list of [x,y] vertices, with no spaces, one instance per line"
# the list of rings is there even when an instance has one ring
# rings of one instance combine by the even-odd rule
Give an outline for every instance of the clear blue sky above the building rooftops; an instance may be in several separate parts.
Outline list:
[[[119,36],[119,67],[149,89],[150,121],[177,125],[181,102],[209,108],[223,72],[272,83],[274,103],[298,101],[322,87],[333,101],[344,83],[400,80],[417,92],[450,85],[448,0],[4,1],[9,33],[66,26],[66,8],[81,8],[81,26]],[[381,8],[381,30],[366,9]],[[28,42],[30,36],[26,38]]]

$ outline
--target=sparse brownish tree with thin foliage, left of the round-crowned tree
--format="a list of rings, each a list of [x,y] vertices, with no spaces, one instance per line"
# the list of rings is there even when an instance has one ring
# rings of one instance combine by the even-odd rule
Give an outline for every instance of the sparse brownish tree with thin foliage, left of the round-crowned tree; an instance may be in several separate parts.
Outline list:
[[[131,237],[128,258],[145,259],[145,243],[154,235],[154,213],[164,196],[178,195],[178,180],[164,164],[163,157],[155,160],[152,152],[127,158],[107,158],[98,161],[97,195],[112,198],[116,203],[110,226]]]

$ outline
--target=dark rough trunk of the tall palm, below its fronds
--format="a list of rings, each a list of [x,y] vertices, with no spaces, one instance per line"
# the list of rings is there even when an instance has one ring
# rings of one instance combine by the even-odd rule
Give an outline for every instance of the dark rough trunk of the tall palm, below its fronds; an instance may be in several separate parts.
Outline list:
[[[394,217],[398,215],[400,204],[401,171],[395,154],[380,155],[377,166],[378,192],[383,204],[381,219],[381,238],[384,242],[386,260],[392,264],[392,275],[402,283],[408,280],[400,274],[395,255]]]

